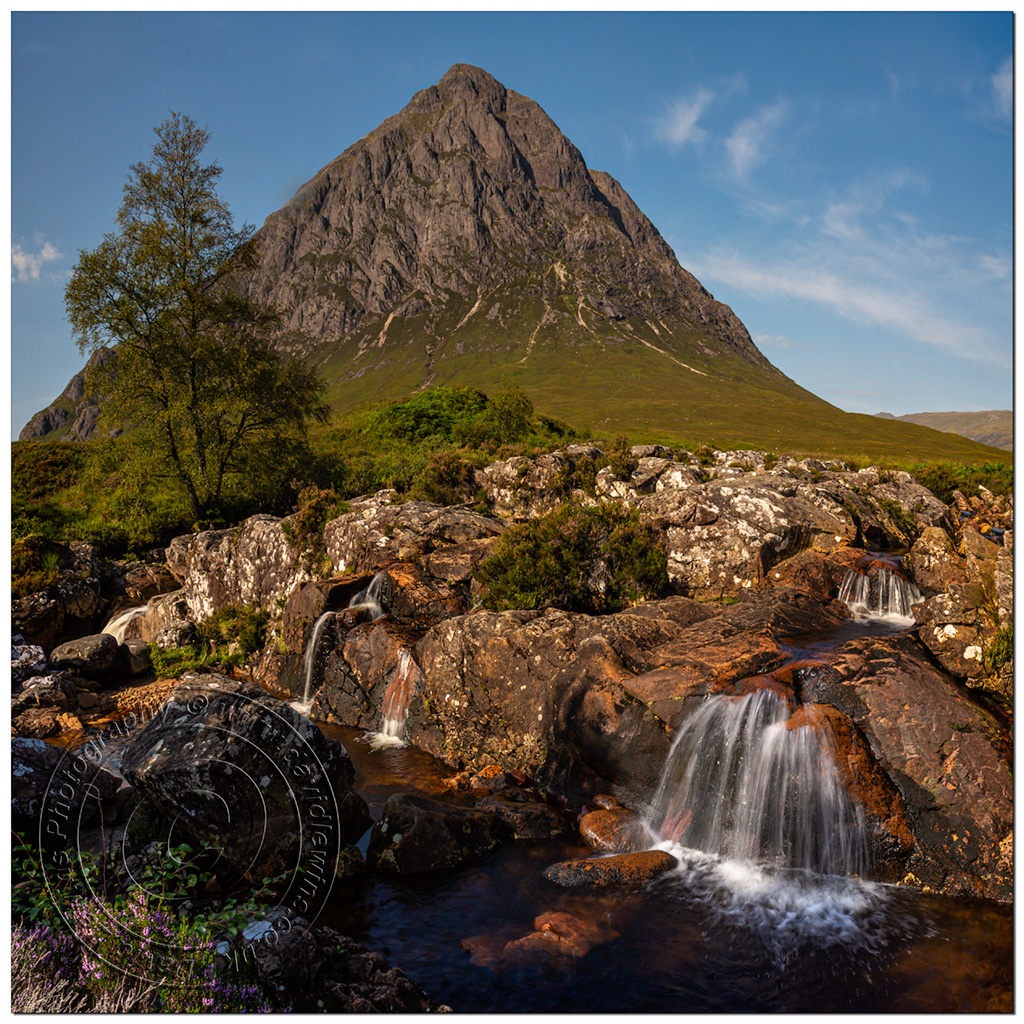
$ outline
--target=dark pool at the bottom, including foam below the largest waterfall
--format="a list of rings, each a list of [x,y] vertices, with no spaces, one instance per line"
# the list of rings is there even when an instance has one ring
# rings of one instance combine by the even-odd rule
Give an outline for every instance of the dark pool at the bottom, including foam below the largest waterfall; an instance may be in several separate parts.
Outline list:
[[[356,788],[436,794],[442,765],[373,752],[352,729]],[[699,857],[639,892],[562,889],[543,877],[579,847],[518,843],[459,871],[339,884],[319,918],[382,952],[458,1012],[872,1013],[1013,1008],[1013,916],[996,904],[861,886]],[[463,939],[513,940],[563,911],[607,941],[581,957],[476,966]]]

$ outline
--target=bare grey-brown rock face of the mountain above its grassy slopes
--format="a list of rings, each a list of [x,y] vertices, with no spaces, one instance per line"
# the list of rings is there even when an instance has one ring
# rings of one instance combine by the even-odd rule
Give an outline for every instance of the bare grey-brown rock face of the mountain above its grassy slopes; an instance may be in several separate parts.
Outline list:
[[[455,338],[502,339],[518,358],[569,325],[578,342],[618,325],[624,343],[664,335],[667,352],[696,332],[705,356],[733,351],[781,378],[618,182],[589,171],[534,100],[469,65],[346,150],[259,233],[250,291],[288,310],[286,328],[341,342],[353,377],[391,356],[392,335],[408,346],[413,325],[423,379],[460,354]]]

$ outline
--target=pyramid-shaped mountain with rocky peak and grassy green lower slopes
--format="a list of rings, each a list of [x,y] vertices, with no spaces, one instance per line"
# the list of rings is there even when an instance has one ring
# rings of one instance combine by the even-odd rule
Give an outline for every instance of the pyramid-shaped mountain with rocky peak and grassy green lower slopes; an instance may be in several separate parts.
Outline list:
[[[772,366],[657,228],[532,99],[455,65],[257,232],[237,282],[344,412],[430,385],[517,383],[594,433],[860,460],[991,450],[844,413]],[[67,398],[67,396],[62,396]],[[22,433],[88,436],[79,403]],[[91,414],[90,414],[91,415]]]

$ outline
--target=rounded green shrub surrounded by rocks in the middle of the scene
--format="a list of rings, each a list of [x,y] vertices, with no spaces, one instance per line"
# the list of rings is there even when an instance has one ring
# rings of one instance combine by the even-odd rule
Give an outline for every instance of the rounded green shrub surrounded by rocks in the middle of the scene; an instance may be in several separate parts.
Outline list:
[[[556,605],[616,611],[668,585],[665,549],[635,510],[563,505],[507,530],[477,569],[495,610]]]

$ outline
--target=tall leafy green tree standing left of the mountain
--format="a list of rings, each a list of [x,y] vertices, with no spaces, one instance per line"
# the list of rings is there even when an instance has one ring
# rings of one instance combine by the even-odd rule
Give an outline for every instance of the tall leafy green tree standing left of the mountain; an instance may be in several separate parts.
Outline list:
[[[278,312],[234,284],[257,250],[217,195],[220,167],[202,162],[210,133],[181,114],[155,131],[117,230],[79,253],[65,302],[83,353],[115,349],[91,386],[102,422],[127,432],[132,471],[170,476],[201,520],[231,478],[247,489],[287,478],[307,422],[328,408],[315,372],[274,346]]]

